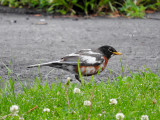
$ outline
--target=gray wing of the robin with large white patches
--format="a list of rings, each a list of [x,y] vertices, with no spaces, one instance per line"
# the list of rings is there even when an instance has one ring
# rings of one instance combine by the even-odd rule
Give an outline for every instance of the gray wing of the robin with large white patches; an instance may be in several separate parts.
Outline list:
[[[76,53],[69,54],[61,59],[61,63],[81,66],[100,65],[104,61],[103,55],[99,51],[84,49]]]

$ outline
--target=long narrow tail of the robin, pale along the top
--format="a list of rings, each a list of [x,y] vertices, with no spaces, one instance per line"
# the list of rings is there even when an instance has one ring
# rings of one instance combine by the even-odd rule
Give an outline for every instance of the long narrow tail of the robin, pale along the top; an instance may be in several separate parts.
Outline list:
[[[52,62],[47,62],[47,63],[42,63],[42,64],[30,65],[27,68],[41,67],[41,66],[58,67],[60,64],[61,63],[59,61],[52,61]]]

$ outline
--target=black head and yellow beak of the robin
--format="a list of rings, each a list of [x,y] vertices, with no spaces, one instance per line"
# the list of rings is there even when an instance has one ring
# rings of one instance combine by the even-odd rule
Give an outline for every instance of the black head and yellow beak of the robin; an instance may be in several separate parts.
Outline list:
[[[98,48],[103,54],[105,57],[107,57],[108,59],[111,58],[112,55],[122,55],[122,53],[120,52],[117,52],[113,47],[111,46],[108,46],[108,45],[105,45],[105,46],[102,46],[100,48]]]

